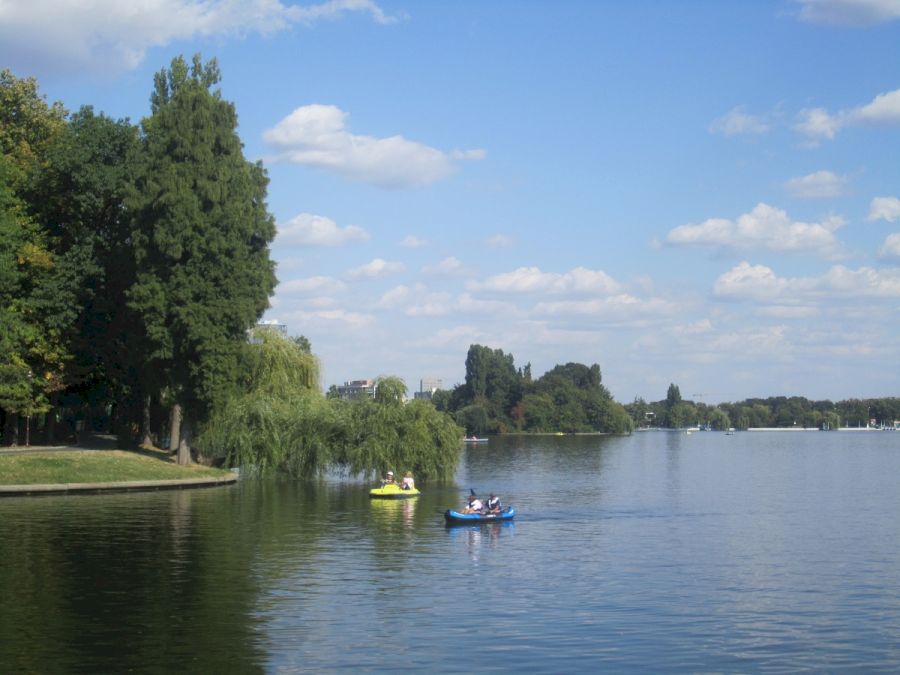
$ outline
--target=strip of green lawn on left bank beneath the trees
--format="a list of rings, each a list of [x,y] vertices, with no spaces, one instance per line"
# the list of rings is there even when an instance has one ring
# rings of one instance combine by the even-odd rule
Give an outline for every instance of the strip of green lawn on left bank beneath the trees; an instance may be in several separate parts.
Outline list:
[[[0,485],[109,483],[228,476],[208,466],[178,466],[168,458],[122,450],[0,454]]]

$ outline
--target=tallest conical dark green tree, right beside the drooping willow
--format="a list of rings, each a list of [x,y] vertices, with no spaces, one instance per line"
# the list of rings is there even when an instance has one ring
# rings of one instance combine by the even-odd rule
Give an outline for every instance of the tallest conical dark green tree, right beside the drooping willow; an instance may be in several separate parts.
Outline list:
[[[165,388],[183,408],[179,463],[190,462],[195,423],[234,384],[276,282],[268,179],[244,159],[219,81],[216,61],[199,55],[157,73],[131,199],[143,396],[146,405]]]

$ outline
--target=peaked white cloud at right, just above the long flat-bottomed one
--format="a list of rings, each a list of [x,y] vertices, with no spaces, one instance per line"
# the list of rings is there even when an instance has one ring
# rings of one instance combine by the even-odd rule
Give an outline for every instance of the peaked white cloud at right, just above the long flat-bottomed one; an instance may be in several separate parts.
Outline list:
[[[843,225],[844,220],[837,216],[821,223],[792,221],[782,209],[759,203],[737,220],[710,218],[699,225],[679,225],[666,236],[666,243],[834,257],[840,249],[834,233]]]

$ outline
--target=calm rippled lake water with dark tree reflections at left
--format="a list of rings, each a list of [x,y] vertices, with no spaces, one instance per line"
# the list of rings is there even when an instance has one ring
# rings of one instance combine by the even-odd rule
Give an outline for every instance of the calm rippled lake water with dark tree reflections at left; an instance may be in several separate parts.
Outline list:
[[[900,670],[900,433],[492,438],[368,487],[2,499],[0,667]],[[469,488],[515,523],[446,528]]]

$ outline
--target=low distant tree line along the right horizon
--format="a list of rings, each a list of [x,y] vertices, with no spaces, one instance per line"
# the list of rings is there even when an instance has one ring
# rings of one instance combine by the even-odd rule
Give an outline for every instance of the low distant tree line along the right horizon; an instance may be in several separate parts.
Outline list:
[[[684,428],[709,425],[712,429],[751,427],[804,427],[838,429],[893,425],[900,420],[900,398],[811,401],[802,396],[749,398],[736,403],[708,405],[683,400],[678,385],[670,384],[666,398],[646,402],[637,398],[625,406],[636,427]]]

